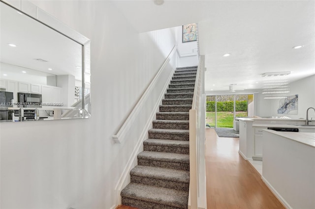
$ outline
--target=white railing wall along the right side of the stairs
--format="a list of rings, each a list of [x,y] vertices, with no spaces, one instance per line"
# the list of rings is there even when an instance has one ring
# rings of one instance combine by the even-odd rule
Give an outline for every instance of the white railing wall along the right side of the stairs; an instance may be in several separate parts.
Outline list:
[[[206,209],[204,55],[199,64],[189,110],[189,209]]]

